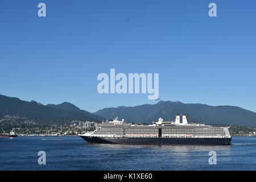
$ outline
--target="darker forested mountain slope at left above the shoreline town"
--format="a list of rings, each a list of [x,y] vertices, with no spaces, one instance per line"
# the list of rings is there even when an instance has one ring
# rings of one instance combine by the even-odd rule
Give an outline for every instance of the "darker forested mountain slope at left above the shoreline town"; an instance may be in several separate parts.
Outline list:
[[[64,102],[60,105],[42,105],[36,101],[22,101],[19,98],[0,95],[0,118],[5,115],[14,115],[35,119],[39,122],[64,122],[72,119],[88,121],[102,121],[88,111],[80,110],[78,107]]]

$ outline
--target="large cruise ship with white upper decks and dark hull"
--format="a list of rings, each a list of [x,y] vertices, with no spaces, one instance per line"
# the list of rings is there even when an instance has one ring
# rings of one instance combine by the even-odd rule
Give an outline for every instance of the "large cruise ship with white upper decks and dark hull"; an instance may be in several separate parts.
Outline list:
[[[118,121],[105,121],[92,133],[79,136],[88,143],[112,144],[198,144],[229,145],[230,127],[213,127],[203,122],[188,123],[187,115],[177,114],[174,121],[159,118],[152,125],[137,125]]]

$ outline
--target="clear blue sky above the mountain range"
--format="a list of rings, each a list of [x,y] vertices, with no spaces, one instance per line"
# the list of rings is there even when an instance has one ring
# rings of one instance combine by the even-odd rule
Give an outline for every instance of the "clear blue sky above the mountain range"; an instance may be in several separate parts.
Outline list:
[[[38,3],[47,17],[38,17]],[[208,5],[217,4],[217,17]],[[88,111],[155,104],[99,94],[97,76],[159,73],[164,100],[256,111],[256,2],[0,1],[0,94]]]

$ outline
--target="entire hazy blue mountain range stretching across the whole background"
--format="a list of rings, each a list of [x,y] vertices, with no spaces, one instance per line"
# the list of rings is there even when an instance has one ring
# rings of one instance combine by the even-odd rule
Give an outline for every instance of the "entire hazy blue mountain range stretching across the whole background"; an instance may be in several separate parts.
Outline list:
[[[189,121],[204,121],[207,124],[238,125],[256,127],[256,113],[236,106],[209,106],[184,104],[182,102],[159,101],[134,107],[109,107],[90,113],[69,103],[42,105],[36,101],[0,95],[0,119],[5,115],[26,117],[38,122],[80,121],[101,122],[105,118],[125,119],[126,122],[152,123],[163,118],[172,121],[175,114],[188,114]]]

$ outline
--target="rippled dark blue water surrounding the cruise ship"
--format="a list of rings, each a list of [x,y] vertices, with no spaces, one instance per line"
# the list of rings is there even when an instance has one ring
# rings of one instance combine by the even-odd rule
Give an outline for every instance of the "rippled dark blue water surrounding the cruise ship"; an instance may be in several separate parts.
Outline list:
[[[232,140],[232,146],[129,146],[80,137],[1,138],[0,170],[256,170],[256,137]],[[208,163],[212,150],[217,165]],[[38,164],[39,151],[46,151],[46,165]]]

